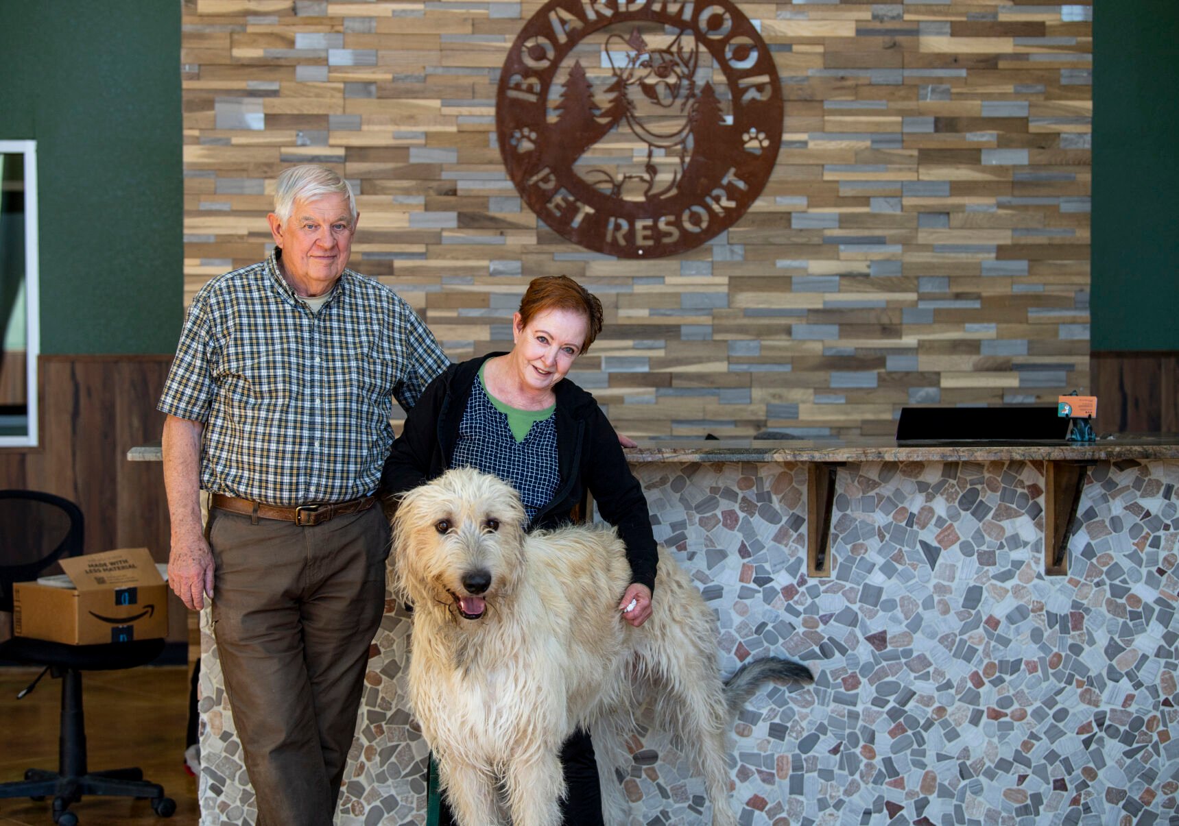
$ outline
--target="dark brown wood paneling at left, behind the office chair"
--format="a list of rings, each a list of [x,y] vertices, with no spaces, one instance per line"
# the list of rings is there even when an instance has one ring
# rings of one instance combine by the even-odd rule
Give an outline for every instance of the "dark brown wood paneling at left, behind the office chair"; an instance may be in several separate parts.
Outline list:
[[[41,444],[0,448],[0,487],[72,500],[86,517],[85,551],[146,547],[167,562],[170,523],[158,462],[127,449],[158,442],[156,401],[171,356],[41,356]],[[171,597],[169,637],[187,639],[184,606]]]

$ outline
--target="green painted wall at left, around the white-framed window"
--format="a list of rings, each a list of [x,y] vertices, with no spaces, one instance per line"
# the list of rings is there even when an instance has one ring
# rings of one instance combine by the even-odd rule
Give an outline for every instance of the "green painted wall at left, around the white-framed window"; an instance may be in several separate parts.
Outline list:
[[[172,352],[179,0],[0,0],[0,138],[38,151],[41,352]]]

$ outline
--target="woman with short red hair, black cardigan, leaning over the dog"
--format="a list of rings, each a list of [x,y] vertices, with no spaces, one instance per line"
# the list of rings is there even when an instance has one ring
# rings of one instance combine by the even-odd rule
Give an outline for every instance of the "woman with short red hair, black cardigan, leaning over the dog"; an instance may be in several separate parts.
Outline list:
[[[382,488],[399,494],[450,468],[473,467],[520,493],[529,529],[568,522],[588,490],[626,543],[632,582],[618,607],[637,627],[651,616],[656,580],[647,502],[605,414],[567,378],[601,324],[601,303],[572,278],[533,279],[512,319],[512,350],[453,364],[426,388],[394,442]],[[600,826],[588,732],[569,738],[561,761],[568,786],[564,824]],[[444,800],[440,818],[428,822],[453,822]]]

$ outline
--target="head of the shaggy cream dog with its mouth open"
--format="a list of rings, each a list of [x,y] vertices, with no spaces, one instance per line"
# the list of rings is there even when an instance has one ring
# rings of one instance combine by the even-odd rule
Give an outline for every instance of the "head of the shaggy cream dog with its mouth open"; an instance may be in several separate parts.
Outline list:
[[[393,520],[394,589],[415,608],[479,620],[512,594],[523,564],[525,510],[495,476],[456,468],[401,498]]]

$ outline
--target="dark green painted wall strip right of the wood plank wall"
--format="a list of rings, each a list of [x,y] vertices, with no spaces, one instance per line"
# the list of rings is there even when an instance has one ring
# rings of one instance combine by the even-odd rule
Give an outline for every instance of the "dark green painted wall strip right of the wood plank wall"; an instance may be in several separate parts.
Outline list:
[[[1179,350],[1179,2],[1093,13],[1092,348]]]

